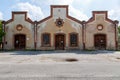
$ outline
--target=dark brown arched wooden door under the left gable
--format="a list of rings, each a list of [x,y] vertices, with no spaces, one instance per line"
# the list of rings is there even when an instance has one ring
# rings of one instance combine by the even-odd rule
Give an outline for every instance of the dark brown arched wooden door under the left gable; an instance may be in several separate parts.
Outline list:
[[[26,36],[24,34],[17,34],[14,36],[14,47],[15,49],[25,49]]]

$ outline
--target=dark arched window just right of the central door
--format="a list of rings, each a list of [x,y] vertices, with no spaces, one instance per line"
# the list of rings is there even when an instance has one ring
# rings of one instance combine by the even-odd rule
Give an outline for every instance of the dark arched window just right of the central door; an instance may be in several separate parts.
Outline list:
[[[77,47],[78,46],[78,34],[70,33],[70,46]]]

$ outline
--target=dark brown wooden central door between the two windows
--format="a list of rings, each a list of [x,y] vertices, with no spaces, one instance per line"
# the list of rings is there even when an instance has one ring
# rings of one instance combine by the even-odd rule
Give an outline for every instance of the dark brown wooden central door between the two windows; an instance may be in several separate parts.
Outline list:
[[[55,49],[56,50],[64,50],[65,47],[65,35],[64,34],[56,34],[55,35]]]

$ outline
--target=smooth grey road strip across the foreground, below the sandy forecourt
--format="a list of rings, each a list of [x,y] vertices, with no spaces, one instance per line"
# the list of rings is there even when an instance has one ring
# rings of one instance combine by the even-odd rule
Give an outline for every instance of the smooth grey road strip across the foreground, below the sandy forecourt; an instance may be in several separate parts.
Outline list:
[[[116,62],[2,64],[0,80],[120,80]]]

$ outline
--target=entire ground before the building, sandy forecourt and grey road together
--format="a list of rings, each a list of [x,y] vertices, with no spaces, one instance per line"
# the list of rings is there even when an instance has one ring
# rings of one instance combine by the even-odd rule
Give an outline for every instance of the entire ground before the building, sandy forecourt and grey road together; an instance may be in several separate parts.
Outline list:
[[[116,51],[0,52],[0,80],[120,80],[119,68]]]

